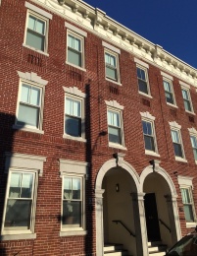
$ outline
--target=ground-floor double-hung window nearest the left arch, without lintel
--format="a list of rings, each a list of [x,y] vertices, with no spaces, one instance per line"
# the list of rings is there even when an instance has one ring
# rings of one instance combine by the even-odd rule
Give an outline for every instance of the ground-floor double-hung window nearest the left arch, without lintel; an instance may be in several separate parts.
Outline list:
[[[82,224],[82,178],[63,178],[63,227],[81,227]]]

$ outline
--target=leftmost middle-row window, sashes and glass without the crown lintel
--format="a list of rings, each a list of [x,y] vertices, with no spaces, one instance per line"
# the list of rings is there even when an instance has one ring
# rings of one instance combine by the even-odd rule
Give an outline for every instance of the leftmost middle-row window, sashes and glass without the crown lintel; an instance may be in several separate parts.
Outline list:
[[[17,124],[39,129],[42,89],[22,83]]]

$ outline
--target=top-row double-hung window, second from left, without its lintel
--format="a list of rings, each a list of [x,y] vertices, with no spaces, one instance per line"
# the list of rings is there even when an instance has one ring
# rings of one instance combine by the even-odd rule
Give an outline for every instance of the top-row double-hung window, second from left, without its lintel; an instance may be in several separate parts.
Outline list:
[[[74,33],[68,32],[68,53],[67,60],[69,63],[77,67],[84,67],[84,49],[83,49],[84,39],[82,36]]]

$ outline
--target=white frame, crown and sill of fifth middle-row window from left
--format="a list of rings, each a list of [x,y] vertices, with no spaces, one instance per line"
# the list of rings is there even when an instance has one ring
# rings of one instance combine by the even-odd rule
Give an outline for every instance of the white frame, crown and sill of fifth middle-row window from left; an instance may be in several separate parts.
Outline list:
[[[181,126],[178,125],[175,121],[174,121],[174,122],[169,122],[169,124],[170,124],[170,126],[171,126],[171,137],[172,137],[172,131],[177,132],[177,135],[178,135],[178,141],[179,141],[179,142],[173,142],[173,141],[172,141],[172,145],[173,145],[173,154],[174,154],[175,160],[187,161],[187,160],[185,159],[184,147],[183,147],[183,142],[182,142]],[[181,149],[181,152],[182,152],[182,157],[175,156],[174,144],[177,144],[177,145],[180,146],[180,149]]]

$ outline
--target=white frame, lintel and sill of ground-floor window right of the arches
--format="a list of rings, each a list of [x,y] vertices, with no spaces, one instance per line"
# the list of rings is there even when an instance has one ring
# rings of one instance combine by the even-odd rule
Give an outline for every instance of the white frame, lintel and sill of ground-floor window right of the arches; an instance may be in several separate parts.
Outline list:
[[[187,222],[186,219],[185,219],[186,227],[187,228],[195,227],[196,223],[197,223],[197,219],[196,219],[196,211],[195,211],[195,206],[194,206],[194,201],[193,201],[193,193],[192,193],[192,190],[193,190],[192,180],[193,180],[193,178],[188,177],[188,176],[178,175],[177,180],[178,180],[178,185],[179,185],[179,189],[180,189],[180,194],[181,194],[181,189],[187,189],[189,191],[189,197],[190,197],[190,201],[191,201],[189,203],[189,205],[191,206],[191,209],[192,209],[194,222]],[[181,195],[181,199],[182,199],[182,195]],[[184,207],[183,202],[182,202],[182,204],[183,204],[183,207]]]

